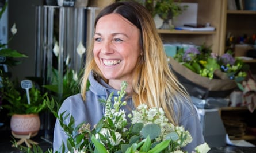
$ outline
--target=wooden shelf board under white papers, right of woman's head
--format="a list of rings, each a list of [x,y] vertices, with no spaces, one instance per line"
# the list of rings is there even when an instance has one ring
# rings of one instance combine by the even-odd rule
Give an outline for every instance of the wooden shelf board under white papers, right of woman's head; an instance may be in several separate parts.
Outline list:
[[[216,34],[216,31],[209,31],[209,32],[195,32],[195,31],[188,31],[188,30],[163,30],[158,29],[158,33],[160,34]]]

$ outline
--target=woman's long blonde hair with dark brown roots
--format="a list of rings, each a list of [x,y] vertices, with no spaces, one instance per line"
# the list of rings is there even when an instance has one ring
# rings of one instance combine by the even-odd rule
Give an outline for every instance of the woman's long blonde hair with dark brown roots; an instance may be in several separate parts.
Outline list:
[[[174,106],[178,107],[179,103],[183,102],[189,103],[189,96],[169,68],[162,40],[151,14],[139,3],[117,2],[105,7],[98,14],[95,25],[98,19],[110,13],[122,15],[140,29],[142,56],[135,68],[136,73],[131,84],[134,105],[137,107],[146,103],[149,107],[162,107],[170,122],[177,125],[179,114],[175,114]],[[94,61],[93,43],[90,47],[81,80],[83,99],[86,99],[86,84],[91,70],[104,79]]]

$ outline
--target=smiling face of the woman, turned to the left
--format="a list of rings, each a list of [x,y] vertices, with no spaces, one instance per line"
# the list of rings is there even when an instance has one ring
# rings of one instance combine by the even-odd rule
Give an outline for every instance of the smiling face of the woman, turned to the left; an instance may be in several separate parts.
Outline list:
[[[101,17],[95,27],[94,60],[109,84],[131,83],[142,53],[139,29],[119,14]]]

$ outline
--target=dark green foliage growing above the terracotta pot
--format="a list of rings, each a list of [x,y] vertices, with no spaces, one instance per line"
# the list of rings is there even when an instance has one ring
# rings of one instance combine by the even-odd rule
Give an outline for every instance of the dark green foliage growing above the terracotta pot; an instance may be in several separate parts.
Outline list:
[[[12,82],[8,77],[1,78],[1,99],[5,100],[3,108],[9,111],[9,115],[39,113],[46,108],[44,99],[47,93],[41,95],[39,89],[32,87],[29,89],[30,104],[28,104],[26,92],[20,88],[17,81]]]

